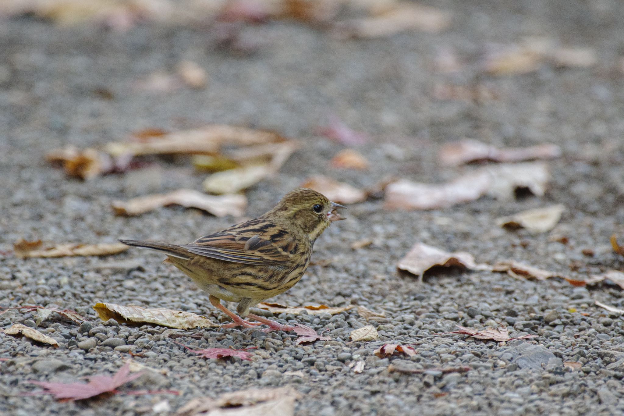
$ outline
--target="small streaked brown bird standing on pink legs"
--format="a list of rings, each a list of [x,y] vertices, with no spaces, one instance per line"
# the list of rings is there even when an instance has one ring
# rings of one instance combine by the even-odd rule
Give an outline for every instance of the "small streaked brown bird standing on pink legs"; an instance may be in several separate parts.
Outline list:
[[[254,327],[266,324],[265,332],[292,331],[249,308],[295,286],[310,263],[314,241],[332,221],[344,220],[337,212],[342,205],[317,191],[297,188],[287,193],[275,208],[253,220],[198,238],[190,244],[167,244],[120,239],[130,246],[163,251],[197,286],[207,291],[210,303],[234,322],[224,327]],[[221,300],[238,302],[236,316]],[[246,321],[249,317],[258,322]]]

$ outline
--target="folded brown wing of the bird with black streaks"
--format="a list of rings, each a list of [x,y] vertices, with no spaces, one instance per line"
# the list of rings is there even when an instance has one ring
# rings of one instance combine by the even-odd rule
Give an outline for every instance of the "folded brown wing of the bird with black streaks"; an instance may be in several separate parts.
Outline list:
[[[285,230],[271,225],[266,230],[230,228],[182,247],[193,254],[233,263],[287,266],[295,261],[299,245]]]

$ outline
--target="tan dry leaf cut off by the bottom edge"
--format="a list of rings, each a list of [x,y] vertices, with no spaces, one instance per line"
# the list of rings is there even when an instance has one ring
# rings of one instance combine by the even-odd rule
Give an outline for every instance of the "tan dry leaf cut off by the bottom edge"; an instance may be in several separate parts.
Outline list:
[[[197,397],[180,408],[177,416],[293,416],[301,395],[291,387],[228,392],[217,399]]]

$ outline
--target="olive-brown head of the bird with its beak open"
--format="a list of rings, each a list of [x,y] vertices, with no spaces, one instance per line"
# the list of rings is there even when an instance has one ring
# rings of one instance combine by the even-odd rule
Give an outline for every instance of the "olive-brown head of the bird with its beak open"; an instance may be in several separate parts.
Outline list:
[[[296,188],[284,195],[280,203],[265,216],[275,216],[300,228],[314,241],[331,222],[344,220],[338,208],[346,207],[328,200],[317,191]]]

